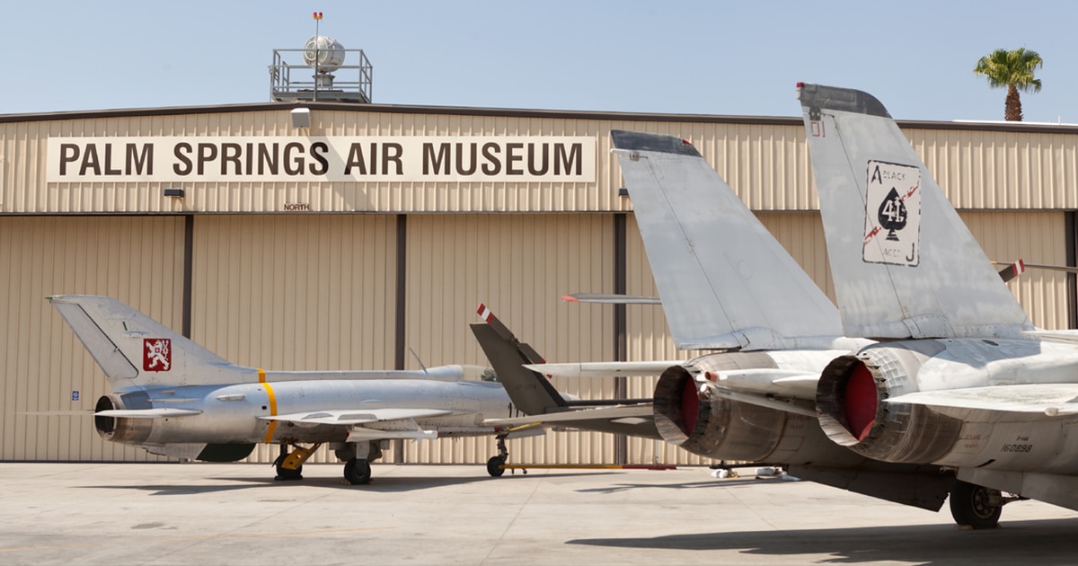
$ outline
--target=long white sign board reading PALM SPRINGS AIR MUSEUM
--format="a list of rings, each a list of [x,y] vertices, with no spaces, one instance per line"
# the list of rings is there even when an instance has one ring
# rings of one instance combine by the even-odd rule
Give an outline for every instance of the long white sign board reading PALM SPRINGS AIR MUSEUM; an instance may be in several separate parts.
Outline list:
[[[49,138],[47,182],[594,182],[584,136]]]

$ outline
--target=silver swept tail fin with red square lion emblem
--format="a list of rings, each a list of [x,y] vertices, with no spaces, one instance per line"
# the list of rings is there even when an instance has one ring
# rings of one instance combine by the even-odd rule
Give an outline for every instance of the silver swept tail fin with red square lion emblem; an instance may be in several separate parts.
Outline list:
[[[236,373],[240,368],[115,299],[93,295],[47,299],[105,371],[113,388],[241,381]],[[229,378],[224,378],[225,373]]]

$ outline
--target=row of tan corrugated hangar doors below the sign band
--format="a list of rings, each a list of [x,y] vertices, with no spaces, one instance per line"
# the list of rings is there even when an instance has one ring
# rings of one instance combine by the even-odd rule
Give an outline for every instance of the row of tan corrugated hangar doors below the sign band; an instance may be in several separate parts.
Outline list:
[[[763,223],[833,294],[818,215],[770,212]],[[1062,212],[963,212],[993,259],[1066,260]],[[421,215],[406,219],[405,348],[427,365],[485,364],[467,329],[490,306],[551,361],[613,359],[612,306],[561,301],[613,290],[610,215]],[[192,337],[221,356],[274,370],[388,369],[395,364],[397,217],[386,215],[204,216],[194,223]],[[655,294],[634,218],[626,230],[627,292]],[[105,443],[86,417],[26,412],[89,411],[108,386],[47,294],[118,296],[180,328],[182,217],[4,217],[0,262],[3,459],[156,459]],[[1066,276],[1031,270],[1010,284],[1034,323],[1067,325]],[[627,358],[685,359],[661,307],[627,307]],[[405,358],[405,367],[418,361]],[[628,379],[648,397],[654,378]],[[613,397],[612,379],[555,379],[583,398]],[[70,400],[78,390],[81,400]],[[609,463],[612,437],[554,432],[510,443],[514,461]],[[482,463],[492,439],[404,443],[405,461]],[[270,461],[276,448],[252,459]],[[634,463],[700,464],[678,448],[631,439]],[[391,458],[391,455],[387,455]],[[321,451],[315,461],[332,461]]]

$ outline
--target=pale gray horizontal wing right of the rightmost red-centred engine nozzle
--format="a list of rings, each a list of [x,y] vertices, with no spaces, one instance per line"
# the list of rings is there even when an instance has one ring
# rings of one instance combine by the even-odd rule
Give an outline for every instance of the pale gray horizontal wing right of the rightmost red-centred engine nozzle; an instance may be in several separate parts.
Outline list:
[[[887,402],[921,404],[959,418],[968,410],[1066,416],[1078,414],[1078,384],[993,385],[917,391],[892,397]]]

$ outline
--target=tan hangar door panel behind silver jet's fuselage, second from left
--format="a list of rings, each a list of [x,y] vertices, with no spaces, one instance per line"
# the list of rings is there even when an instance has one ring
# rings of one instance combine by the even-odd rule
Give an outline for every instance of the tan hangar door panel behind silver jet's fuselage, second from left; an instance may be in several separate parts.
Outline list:
[[[384,215],[196,217],[192,340],[266,370],[392,369],[396,230]]]

